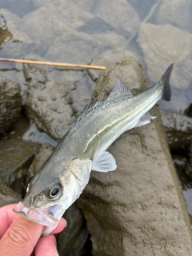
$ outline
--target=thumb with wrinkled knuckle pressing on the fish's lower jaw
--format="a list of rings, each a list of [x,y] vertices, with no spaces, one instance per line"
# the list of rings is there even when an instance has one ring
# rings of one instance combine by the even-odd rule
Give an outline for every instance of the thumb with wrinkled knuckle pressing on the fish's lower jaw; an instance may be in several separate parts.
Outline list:
[[[18,216],[0,241],[0,256],[30,256],[43,226]]]

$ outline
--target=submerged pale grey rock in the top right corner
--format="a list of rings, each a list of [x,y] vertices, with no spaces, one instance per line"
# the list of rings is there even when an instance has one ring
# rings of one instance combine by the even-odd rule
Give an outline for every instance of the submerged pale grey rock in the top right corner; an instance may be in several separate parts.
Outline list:
[[[163,0],[154,18],[156,18],[158,25],[166,25],[169,23],[173,26],[177,26],[181,30],[186,30],[191,33],[191,10],[192,3],[190,0]]]

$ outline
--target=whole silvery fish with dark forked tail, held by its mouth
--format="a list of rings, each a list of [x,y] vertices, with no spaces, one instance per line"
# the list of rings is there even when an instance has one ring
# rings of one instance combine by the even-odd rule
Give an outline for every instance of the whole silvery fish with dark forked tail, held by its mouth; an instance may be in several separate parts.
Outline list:
[[[152,122],[149,110],[158,100],[170,101],[171,64],[150,88],[133,95],[120,78],[105,101],[91,101],[54,148],[50,158],[31,178],[26,196],[14,208],[50,234],[64,212],[79,198],[91,170],[114,171],[116,161],[108,147],[124,132]]]

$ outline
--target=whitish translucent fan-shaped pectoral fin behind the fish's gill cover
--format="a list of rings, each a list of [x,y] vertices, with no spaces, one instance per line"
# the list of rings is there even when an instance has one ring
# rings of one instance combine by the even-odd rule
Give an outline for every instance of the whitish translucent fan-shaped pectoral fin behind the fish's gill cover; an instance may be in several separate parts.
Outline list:
[[[117,168],[116,162],[112,154],[104,152],[98,158],[94,158],[92,170],[100,172],[108,172]]]

